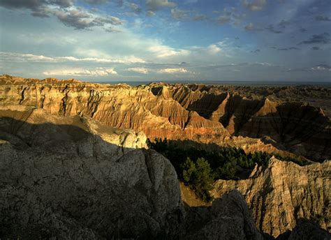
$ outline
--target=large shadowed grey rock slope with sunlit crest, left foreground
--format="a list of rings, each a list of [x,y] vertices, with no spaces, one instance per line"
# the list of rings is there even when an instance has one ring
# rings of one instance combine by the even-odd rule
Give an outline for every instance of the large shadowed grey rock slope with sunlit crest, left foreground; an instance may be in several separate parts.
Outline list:
[[[141,148],[142,133],[43,110],[0,114],[1,239],[154,238],[176,230],[177,174],[168,159]]]

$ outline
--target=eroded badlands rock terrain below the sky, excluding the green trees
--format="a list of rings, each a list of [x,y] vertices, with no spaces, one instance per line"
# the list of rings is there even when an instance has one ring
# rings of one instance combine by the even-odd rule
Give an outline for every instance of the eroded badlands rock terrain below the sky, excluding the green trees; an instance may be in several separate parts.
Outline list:
[[[307,92],[314,94],[300,103]],[[328,239],[330,102],[323,87],[131,87],[2,75],[0,237]],[[194,207],[170,161],[148,149],[156,137],[312,164],[272,158],[247,179],[216,181],[212,204]]]

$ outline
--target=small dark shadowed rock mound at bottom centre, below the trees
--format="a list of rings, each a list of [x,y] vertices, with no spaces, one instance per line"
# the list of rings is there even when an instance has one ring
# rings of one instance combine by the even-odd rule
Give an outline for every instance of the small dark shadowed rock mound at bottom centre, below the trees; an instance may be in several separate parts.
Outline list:
[[[212,203],[209,208],[191,209],[179,239],[264,239],[258,232],[244,198],[237,190]]]

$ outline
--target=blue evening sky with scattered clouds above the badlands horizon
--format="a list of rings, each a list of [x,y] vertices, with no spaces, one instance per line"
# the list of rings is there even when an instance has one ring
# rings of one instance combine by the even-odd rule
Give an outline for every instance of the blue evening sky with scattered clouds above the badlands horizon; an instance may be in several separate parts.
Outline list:
[[[330,0],[0,0],[0,74],[331,82]]]

